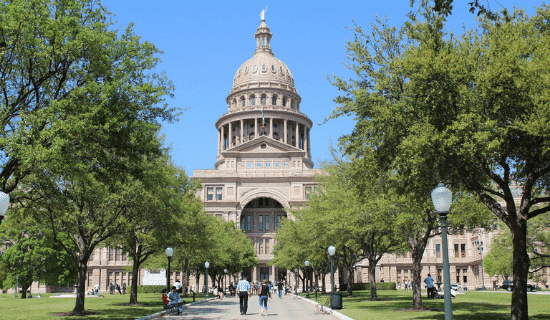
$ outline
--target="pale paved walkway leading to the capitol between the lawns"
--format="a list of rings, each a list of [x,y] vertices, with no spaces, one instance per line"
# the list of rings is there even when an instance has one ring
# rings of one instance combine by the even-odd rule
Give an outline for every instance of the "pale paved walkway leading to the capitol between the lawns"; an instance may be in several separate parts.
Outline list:
[[[334,320],[334,315],[315,314],[315,304],[304,299],[285,295],[282,299],[275,296],[268,302],[267,317],[261,316],[260,304],[257,296],[248,299],[248,311],[241,315],[239,311],[239,298],[226,297],[224,300],[209,300],[187,306],[180,315],[165,315],[161,319],[326,319]]]

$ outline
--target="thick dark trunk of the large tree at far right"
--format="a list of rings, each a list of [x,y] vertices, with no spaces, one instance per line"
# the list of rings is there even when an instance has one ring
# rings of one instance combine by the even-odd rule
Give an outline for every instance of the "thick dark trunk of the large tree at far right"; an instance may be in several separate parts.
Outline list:
[[[527,305],[527,277],[529,256],[527,254],[527,222],[519,221],[512,227],[514,288],[512,290],[512,320],[529,319]]]

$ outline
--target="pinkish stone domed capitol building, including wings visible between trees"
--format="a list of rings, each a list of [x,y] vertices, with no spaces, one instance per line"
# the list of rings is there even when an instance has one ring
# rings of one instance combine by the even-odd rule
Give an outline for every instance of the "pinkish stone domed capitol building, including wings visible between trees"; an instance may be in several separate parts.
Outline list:
[[[293,218],[285,208],[307,203],[320,169],[314,168],[311,159],[312,121],[302,112],[307,111],[307,107],[302,108],[292,72],[273,53],[272,33],[263,14],[254,37],[252,57],[237,68],[225,99],[227,112],[215,123],[217,146],[210,146],[217,148],[217,157],[212,159],[214,168],[194,170],[192,179],[202,183],[199,197],[206,212],[235,222],[253,241],[259,266],[234,276],[244,275],[251,281],[285,278],[288,285],[294,286],[290,270],[269,266],[274,258],[275,233],[282,219]],[[449,236],[452,283],[469,289],[483,285],[492,288],[502,283],[502,278],[482,273],[481,267],[482,257],[498,232],[495,228],[490,232],[475,230]],[[481,241],[483,251],[479,250]],[[422,260],[422,278],[431,273],[436,282],[442,279],[441,249],[439,236],[430,239]],[[133,275],[127,271],[130,264],[120,249],[96,249],[88,263],[86,291],[96,283],[100,284],[101,291],[107,291],[113,281],[131,283]],[[368,282],[366,268],[367,262],[361,262],[352,275],[339,273],[337,283],[347,276],[352,276],[354,282]],[[142,270],[137,275],[138,283],[147,283],[144,279],[151,277],[165,279],[164,272],[151,274]],[[173,270],[170,278],[171,283],[182,280],[183,272]],[[410,253],[385,255],[377,266],[377,281],[382,279],[396,283],[412,280]],[[195,281],[191,278],[189,284]],[[203,283],[202,277],[200,283]],[[326,284],[330,288],[329,275]],[[38,283],[32,286],[33,293],[59,290]]]

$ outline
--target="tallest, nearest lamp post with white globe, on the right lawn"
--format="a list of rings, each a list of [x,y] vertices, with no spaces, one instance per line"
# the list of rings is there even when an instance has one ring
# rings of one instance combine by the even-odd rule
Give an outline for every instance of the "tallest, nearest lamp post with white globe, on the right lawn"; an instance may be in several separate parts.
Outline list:
[[[449,248],[447,245],[447,213],[451,207],[451,201],[453,194],[451,190],[445,188],[440,183],[432,191],[432,202],[435,210],[439,214],[439,220],[441,221],[441,239],[443,242],[443,283],[444,283],[444,297],[445,297],[445,320],[451,320],[453,318],[453,309],[451,306],[451,275],[449,272]]]

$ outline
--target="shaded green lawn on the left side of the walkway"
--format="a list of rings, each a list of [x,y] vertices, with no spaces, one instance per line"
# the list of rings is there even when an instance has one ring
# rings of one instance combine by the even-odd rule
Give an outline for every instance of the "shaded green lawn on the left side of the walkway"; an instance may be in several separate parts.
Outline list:
[[[88,314],[85,317],[59,316],[58,314],[73,310],[75,298],[50,298],[51,294],[42,294],[41,299],[14,299],[13,294],[0,294],[0,319],[137,319],[150,315],[163,309],[161,295],[153,293],[139,293],[138,305],[129,305],[130,295],[105,294],[105,298],[86,298],[86,311],[96,314]],[[197,296],[196,300],[204,299],[204,295]],[[192,302],[193,298],[183,298],[186,302]]]

